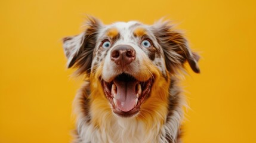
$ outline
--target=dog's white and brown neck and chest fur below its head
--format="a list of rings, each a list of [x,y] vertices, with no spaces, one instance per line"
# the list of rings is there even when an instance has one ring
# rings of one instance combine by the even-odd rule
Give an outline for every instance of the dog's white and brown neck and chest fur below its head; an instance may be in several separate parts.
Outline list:
[[[78,117],[74,142],[180,142],[183,100],[177,84],[177,78],[171,77],[165,119],[154,118],[151,124],[145,124],[135,117],[121,118],[106,112],[95,117],[89,110],[93,108],[90,82],[85,82],[75,98]]]

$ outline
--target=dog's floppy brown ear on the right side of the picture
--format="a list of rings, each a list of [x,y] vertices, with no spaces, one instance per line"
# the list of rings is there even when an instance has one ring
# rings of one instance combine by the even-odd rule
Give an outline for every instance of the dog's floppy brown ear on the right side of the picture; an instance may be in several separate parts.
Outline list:
[[[165,55],[166,69],[171,73],[184,66],[188,61],[195,73],[200,73],[198,66],[199,55],[192,52],[184,38],[183,33],[174,30],[169,21],[158,21],[153,24],[152,30],[159,44],[162,46]]]

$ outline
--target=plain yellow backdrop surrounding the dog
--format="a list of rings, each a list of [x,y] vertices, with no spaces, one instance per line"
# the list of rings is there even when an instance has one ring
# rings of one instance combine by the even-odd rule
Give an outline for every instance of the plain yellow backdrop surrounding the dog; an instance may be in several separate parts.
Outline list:
[[[255,1],[1,1],[0,142],[70,142],[81,80],[66,70],[60,39],[85,14],[104,23],[161,17],[201,51],[201,74],[183,85],[191,110],[184,142],[256,142]]]

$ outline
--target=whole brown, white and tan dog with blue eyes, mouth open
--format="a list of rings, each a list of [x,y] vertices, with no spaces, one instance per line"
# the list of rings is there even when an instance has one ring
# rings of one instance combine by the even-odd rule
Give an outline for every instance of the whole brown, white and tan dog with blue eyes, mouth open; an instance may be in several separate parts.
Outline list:
[[[178,77],[186,62],[200,72],[199,55],[169,21],[104,25],[88,17],[63,47],[67,67],[84,76],[73,142],[181,142]]]

